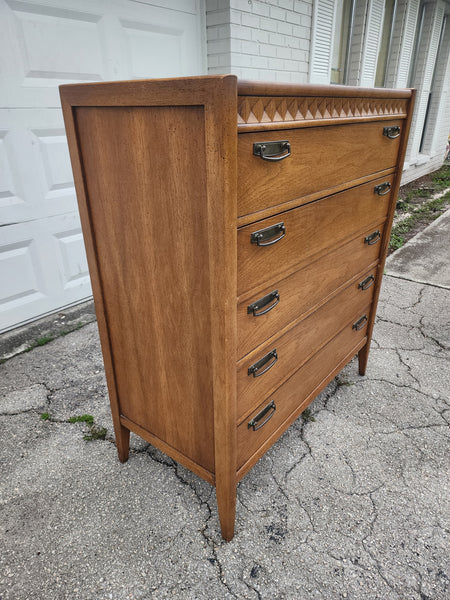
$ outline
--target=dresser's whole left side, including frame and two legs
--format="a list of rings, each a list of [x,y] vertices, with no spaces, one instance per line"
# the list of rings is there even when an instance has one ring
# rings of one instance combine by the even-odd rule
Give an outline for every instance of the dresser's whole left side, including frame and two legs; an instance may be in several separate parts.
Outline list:
[[[231,539],[236,78],[69,85],[61,99],[119,457],[129,427],[195,463]]]

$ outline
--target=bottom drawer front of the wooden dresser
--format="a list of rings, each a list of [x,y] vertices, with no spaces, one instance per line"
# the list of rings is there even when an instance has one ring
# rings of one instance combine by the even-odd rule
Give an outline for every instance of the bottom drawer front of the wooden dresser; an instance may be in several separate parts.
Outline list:
[[[346,358],[349,352],[364,340],[365,335],[365,327],[356,331],[352,329],[352,324],[347,325],[325,348],[308,360],[266,402],[262,403],[238,426],[238,469],[277,432],[277,429],[283,425],[296,409],[301,407],[302,403],[305,403],[303,408],[306,408],[314,396],[311,398],[308,397],[312,393],[315,395],[320,391],[317,389],[318,386],[329,377],[335,367]],[[273,407],[269,407],[267,412],[261,418],[257,419],[254,424],[256,430],[253,429],[253,426],[249,427],[249,423],[272,402],[275,405],[275,410]],[[265,425],[262,425],[266,419],[269,420],[267,420]],[[283,433],[284,429],[282,428],[277,432],[275,439]],[[270,440],[271,444],[275,439]]]

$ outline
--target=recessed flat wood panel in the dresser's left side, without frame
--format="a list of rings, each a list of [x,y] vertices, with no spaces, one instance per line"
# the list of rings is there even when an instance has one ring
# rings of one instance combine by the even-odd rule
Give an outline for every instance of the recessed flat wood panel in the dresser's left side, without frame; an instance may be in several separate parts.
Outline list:
[[[204,108],[75,121],[121,414],[214,472]]]

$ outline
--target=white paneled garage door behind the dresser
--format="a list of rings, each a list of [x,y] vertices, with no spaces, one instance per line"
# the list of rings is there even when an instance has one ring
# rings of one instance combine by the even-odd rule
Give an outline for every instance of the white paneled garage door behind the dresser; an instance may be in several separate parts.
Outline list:
[[[201,75],[204,0],[0,0],[0,332],[91,296],[57,86]]]

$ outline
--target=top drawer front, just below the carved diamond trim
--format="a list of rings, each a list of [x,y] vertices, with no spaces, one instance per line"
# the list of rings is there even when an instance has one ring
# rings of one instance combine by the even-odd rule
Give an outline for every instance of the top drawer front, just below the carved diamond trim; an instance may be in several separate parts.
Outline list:
[[[402,128],[403,121],[239,134],[238,216],[395,167],[400,136],[383,135],[390,126]],[[253,144],[277,140],[289,141],[289,157],[269,161],[253,154]]]

